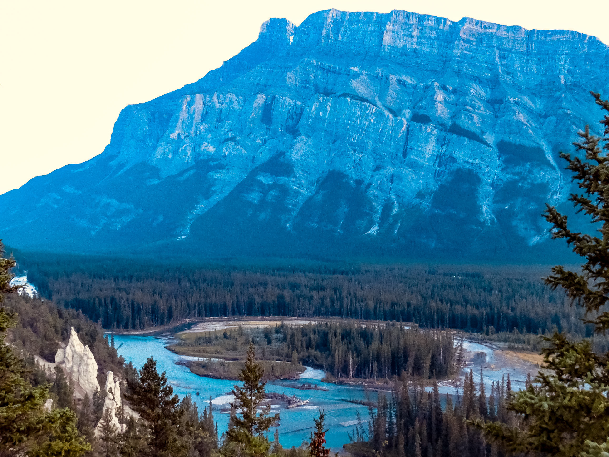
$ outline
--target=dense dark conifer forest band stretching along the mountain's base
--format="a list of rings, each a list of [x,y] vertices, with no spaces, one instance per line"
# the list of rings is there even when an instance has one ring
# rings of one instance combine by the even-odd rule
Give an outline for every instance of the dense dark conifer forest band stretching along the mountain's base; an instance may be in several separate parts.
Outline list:
[[[15,252],[40,291],[104,328],[209,316],[337,316],[474,333],[590,336],[543,267],[423,267],[294,261],[125,260]]]

